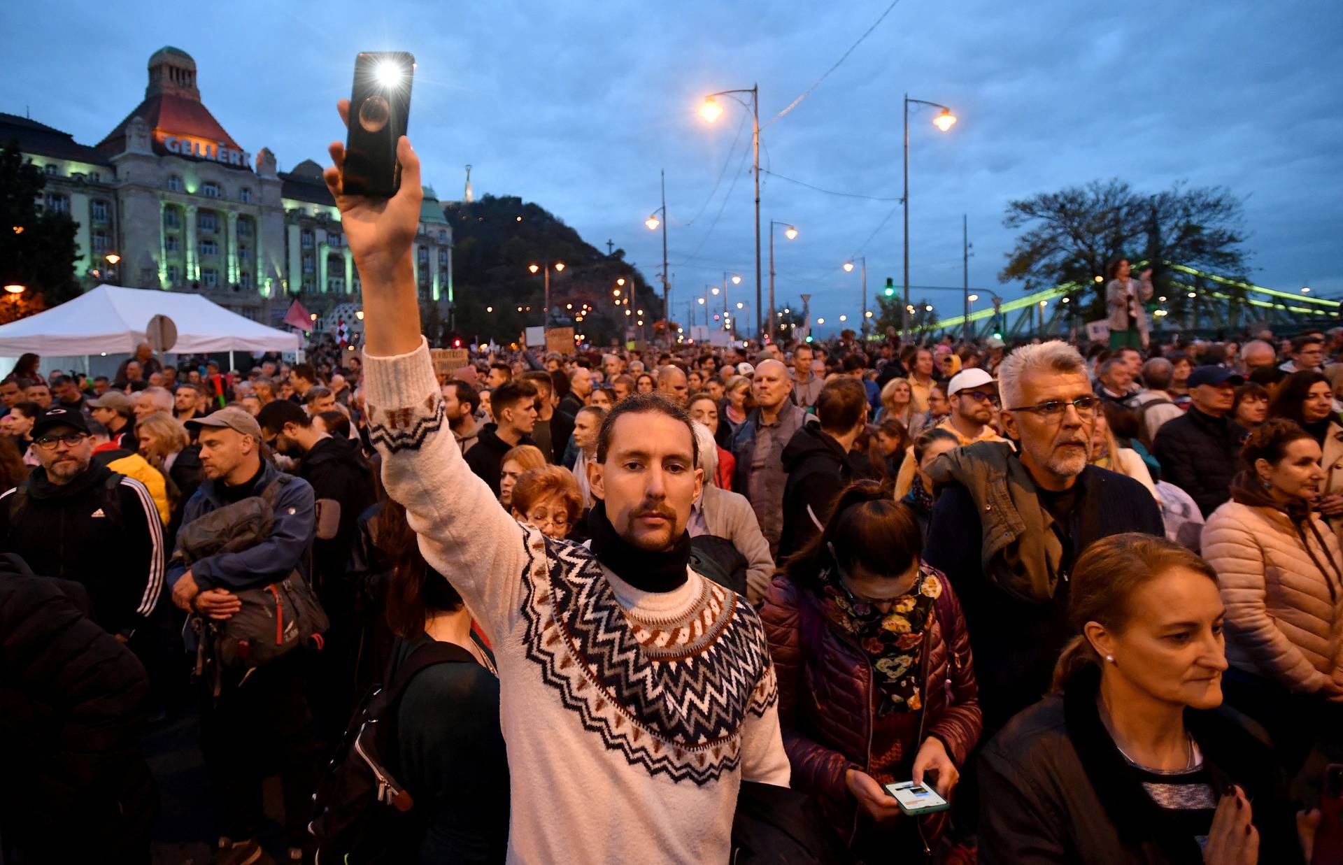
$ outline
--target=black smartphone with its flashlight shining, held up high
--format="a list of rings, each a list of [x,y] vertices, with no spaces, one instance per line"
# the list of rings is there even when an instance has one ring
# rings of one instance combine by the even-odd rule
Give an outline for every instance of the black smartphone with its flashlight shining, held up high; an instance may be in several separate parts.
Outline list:
[[[396,142],[410,120],[414,78],[415,55],[406,51],[364,51],[355,59],[341,173],[345,195],[389,199],[400,189]]]

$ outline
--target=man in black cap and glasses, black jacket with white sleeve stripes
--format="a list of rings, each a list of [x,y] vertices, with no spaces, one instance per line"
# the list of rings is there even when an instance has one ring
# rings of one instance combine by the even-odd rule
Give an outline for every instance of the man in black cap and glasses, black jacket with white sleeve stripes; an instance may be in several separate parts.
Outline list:
[[[32,441],[40,465],[0,496],[0,549],[23,556],[35,574],[82,583],[93,621],[129,641],[163,591],[163,522],[153,498],[140,481],[93,461],[77,408],[48,408]]]

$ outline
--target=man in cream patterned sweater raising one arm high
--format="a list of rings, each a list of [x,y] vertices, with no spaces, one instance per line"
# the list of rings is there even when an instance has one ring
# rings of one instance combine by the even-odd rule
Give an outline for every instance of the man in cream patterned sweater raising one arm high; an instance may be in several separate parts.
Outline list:
[[[607,415],[591,551],[520,525],[462,459],[420,336],[419,158],[399,138],[400,189],[380,200],[344,195],[345,148],[330,154],[387,490],[497,653],[509,861],[727,861],[740,783],[787,786],[788,759],[759,617],[688,565],[702,484],[689,418],[655,394]]]

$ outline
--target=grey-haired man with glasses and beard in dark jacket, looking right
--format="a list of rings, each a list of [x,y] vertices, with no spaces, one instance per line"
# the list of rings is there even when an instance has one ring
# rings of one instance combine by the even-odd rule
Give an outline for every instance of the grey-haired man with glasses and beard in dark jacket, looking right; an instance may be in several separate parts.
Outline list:
[[[1026,345],[998,368],[1003,434],[948,451],[928,474],[943,486],[924,559],[947,574],[970,627],[984,736],[1039,700],[1076,635],[1068,575],[1092,543],[1163,535],[1146,486],[1088,465],[1100,398],[1077,349]]]

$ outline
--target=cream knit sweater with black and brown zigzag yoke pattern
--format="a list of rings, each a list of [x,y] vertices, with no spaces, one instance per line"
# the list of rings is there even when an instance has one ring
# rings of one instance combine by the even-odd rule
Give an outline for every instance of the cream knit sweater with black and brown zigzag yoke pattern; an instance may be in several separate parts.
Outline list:
[[[788,784],[764,629],[690,571],[645,592],[508,516],[445,423],[427,348],[364,365],[387,492],[500,670],[510,862],[725,862],[743,779]]]

